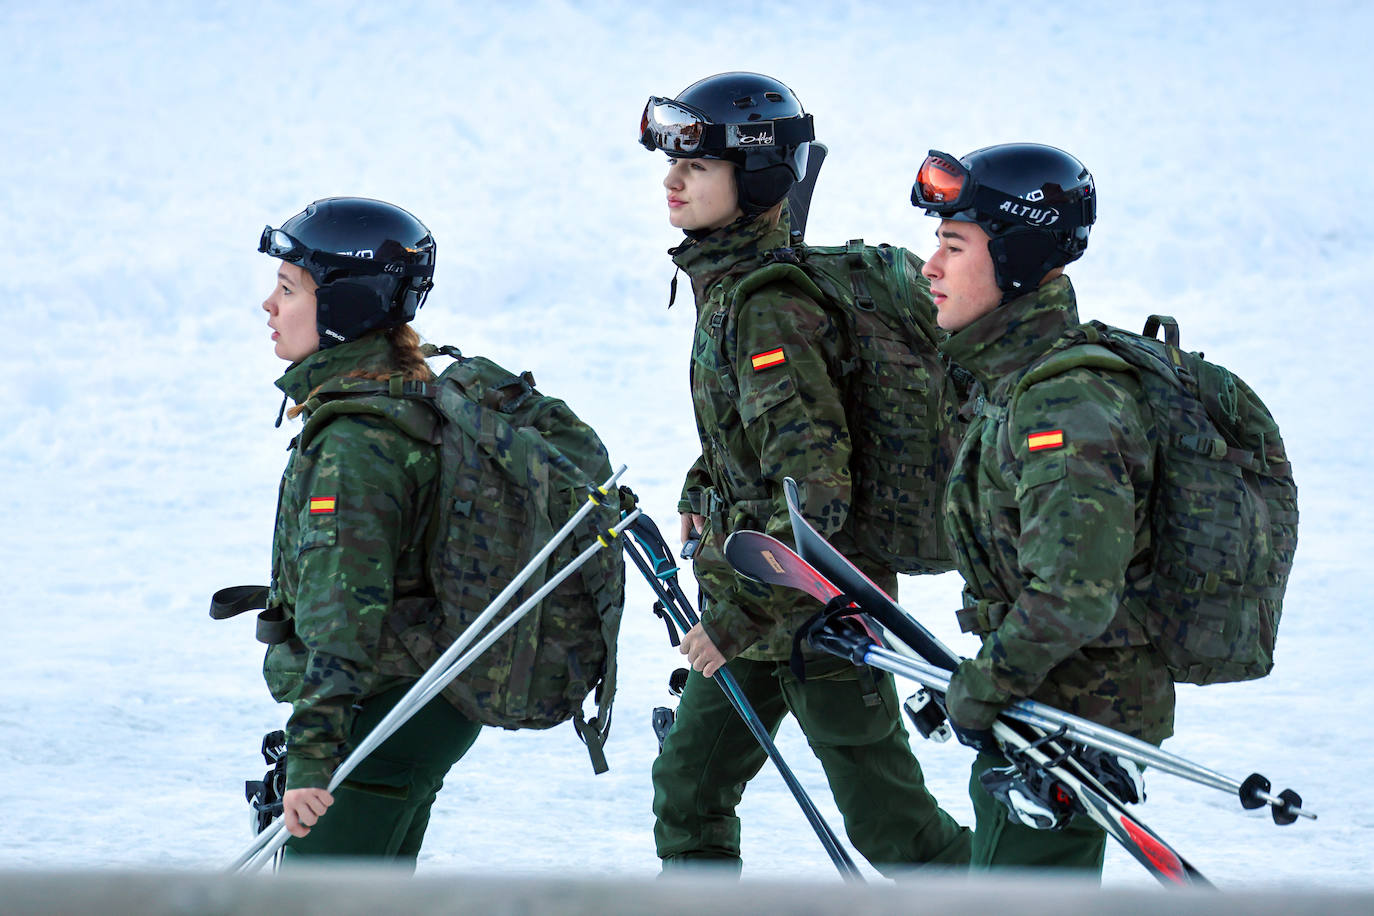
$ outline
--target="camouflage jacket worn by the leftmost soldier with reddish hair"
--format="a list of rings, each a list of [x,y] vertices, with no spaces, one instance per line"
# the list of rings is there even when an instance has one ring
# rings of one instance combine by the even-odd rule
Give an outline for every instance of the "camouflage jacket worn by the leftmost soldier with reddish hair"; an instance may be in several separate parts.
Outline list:
[[[300,404],[323,382],[385,367],[386,353],[381,335],[320,350],[278,387]],[[354,703],[420,673],[386,618],[396,599],[430,593],[425,530],[438,478],[436,448],[381,417],[337,416],[300,441],[282,475],[268,596],[295,633],[262,663],[272,696],[291,703],[291,788],[328,783],[349,750]]]

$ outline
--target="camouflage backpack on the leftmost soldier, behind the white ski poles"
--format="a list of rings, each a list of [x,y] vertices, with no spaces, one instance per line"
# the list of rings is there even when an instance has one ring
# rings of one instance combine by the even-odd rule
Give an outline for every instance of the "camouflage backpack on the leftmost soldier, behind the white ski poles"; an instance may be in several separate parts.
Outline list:
[[[430,602],[397,603],[389,619],[407,652],[429,669],[611,470],[596,433],[563,401],[539,393],[529,372],[515,375],[455,347],[426,345],[425,354],[455,361],[433,383],[396,375],[390,382],[339,379],[323,386],[313,396],[322,407],[302,439],[316,417],[323,423],[335,412],[394,420],[392,398],[420,400],[442,419],[427,558],[441,612]],[[618,493],[598,496],[591,515],[496,621],[618,520]],[[459,674],[444,698],[469,718],[502,728],[551,728],[570,718],[594,769],[605,772],[624,589],[621,552],[598,551]],[[583,700],[592,692],[598,710],[587,720]]]

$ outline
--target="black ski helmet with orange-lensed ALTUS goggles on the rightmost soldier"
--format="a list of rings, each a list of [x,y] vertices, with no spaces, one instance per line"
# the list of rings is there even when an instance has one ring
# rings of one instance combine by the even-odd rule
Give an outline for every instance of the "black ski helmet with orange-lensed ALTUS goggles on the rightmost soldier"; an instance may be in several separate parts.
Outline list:
[[[911,187],[911,203],[927,216],[982,227],[998,287],[1014,298],[1083,257],[1098,196],[1092,173],[1063,150],[1002,143],[960,159],[932,150]]]

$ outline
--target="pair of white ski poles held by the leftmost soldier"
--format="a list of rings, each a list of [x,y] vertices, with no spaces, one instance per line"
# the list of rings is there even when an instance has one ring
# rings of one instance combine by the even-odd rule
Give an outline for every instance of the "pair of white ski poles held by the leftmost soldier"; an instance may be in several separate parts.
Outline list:
[[[595,544],[583,551],[578,556],[573,558],[563,569],[554,574],[537,592],[529,596],[523,603],[519,604],[510,615],[506,617],[491,633],[488,633],[477,645],[469,650],[469,645],[477,640],[478,634],[511,600],[511,597],[521,589],[534,575],[534,573],[544,564],[548,556],[558,549],[569,534],[577,527],[577,525],[587,518],[587,514],[592,511],[595,505],[599,505],[598,496],[605,496],[610,492],[610,488],[616,486],[621,474],[625,472],[625,466],[622,464],[605,483],[596,488],[587,497],[587,503],[573,514],[570,519],[554,536],[544,544],[543,548],[525,564],[525,567],[511,580],[510,585],[502,589],[491,604],[478,615],[473,623],[463,630],[463,633],[453,640],[438,661],[430,666],[425,674],[422,674],[409,691],[405,692],[394,707],[376,724],[367,737],[364,737],[353,753],[334,770],[334,776],[330,779],[327,791],[334,792],[349,773],[357,768],[359,764],[367,758],[382,742],[392,736],[397,728],[400,728],[411,715],[415,714],[422,706],[434,699],[449,681],[463,673],[473,661],[481,655],[492,643],[499,640],[511,626],[514,626],[525,614],[528,614],[534,606],[537,606],[550,592],[558,588],[563,580],[576,573],[578,567],[583,566],[596,551],[603,547],[610,547],[610,541],[606,537],[599,537]],[[635,522],[639,516],[639,511],[633,511],[627,515],[621,522],[610,529],[607,534],[611,540],[620,537],[621,531]],[[466,651],[464,651],[466,650]],[[269,828],[258,834],[249,847],[239,854],[234,862],[229,864],[228,871],[231,872],[251,872],[257,871],[265,865],[272,856],[287,842],[289,834],[284,821],[276,821]]]

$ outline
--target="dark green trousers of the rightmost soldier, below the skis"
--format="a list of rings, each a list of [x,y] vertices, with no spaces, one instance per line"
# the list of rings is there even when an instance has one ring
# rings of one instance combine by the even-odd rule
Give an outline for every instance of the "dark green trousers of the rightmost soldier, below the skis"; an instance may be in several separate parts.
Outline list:
[[[978,754],[969,779],[969,797],[977,825],[973,832],[973,868],[1068,868],[1102,876],[1107,835],[1087,814],[1076,814],[1063,829],[1035,829],[1011,823],[1007,808],[982,788],[978,776],[1007,761]]]

